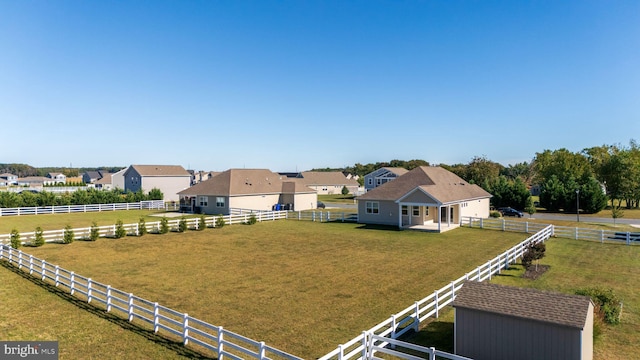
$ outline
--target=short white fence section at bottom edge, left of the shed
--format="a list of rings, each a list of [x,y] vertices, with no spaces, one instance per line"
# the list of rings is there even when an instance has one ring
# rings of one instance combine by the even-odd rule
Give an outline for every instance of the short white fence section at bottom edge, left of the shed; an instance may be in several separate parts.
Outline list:
[[[385,354],[385,359],[406,359],[406,360],[473,360],[468,357],[450,354],[444,351],[436,350],[431,347],[411,344],[408,342],[390,339],[375,334],[367,334],[367,360],[383,360],[376,355]],[[390,356],[389,356],[390,355]]]

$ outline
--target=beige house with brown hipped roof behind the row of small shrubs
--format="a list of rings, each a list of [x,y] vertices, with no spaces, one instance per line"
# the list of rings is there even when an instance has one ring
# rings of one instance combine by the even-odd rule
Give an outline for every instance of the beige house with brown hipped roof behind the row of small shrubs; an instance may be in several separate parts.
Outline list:
[[[229,214],[243,210],[307,210],[316,206],[313,189],[268,169],[230,169],[178,193],[182,211]]]

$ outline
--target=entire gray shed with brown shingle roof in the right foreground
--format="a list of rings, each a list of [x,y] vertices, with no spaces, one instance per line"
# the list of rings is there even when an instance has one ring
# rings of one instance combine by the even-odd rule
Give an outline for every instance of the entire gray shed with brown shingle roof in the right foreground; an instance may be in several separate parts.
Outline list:
[[[453,307],[457,355],[593,359],[593,303],[587,296],[467,281]]]

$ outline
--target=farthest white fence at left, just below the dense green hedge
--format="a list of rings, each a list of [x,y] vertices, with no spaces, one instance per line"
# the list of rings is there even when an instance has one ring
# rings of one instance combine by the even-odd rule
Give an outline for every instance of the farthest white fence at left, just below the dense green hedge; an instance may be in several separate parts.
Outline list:
[[[67,214],[67,213],[77,213],[77,212],[98,212],[98,211],[116,211],[116,210],[163,210],[163,209],[165,209],[163,200],[148,200],[148,201],[140,201],[136,203],[0,208],[0,216]]]

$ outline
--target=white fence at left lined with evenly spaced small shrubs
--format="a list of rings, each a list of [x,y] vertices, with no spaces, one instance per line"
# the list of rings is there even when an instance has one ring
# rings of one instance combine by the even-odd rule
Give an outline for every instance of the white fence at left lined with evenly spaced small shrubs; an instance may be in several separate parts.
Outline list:
[[[250,219],[251,214],[245,213],[242,215],[226,215],[222,216],[225,224],[244,224],[247,223]],[[286,219],[287,213],[286,211],[269,211],[255,214],[257,221],[270,221],[270,220],[280,220]],[[216,221],[219,216],[210,216],[204,218],[204,226],[206,227],[216,227]],[[200,229],[200,218],[185,218],[184,219],[187,224],[188,230]],[[174,218],[171,220],[167,220],[167,225],[169,226],[169,231],[178,231],[180,228],[181,218]],[[160,233],[162,226],[162,221],[153,221],[146,222],[145,229],[149,233]],[[127,235],[140,235],[140,228],[138,223],[134,224],[123,224],[122,227],[125,229]],[[91,227],[84,228],[75,228],[71,229],[73,231],[74,239],[77,240],[86,240],[91,238]],[[98,237],[113,237],[116,234],[117,225],[102,225],[96,227],[98,231]],[[47,230],[42,232],[42,237],[45,242],[62,242],[64,239],[65,229],[61,230]],[[20,241],[24,243],[33,243],[36,238],[36,232],[25,232],[20,233]],[[0,244],[9,243],[11,241],[11,234],[2,234],[0,235]]]

